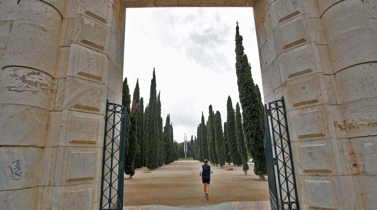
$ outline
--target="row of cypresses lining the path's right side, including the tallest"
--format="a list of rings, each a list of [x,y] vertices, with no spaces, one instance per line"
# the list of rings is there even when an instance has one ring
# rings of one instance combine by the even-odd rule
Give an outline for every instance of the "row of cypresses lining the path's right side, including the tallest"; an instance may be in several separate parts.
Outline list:
[[[244,54],[243,38],[239,35],[239,26],[236,26],[236,75],[239,103],[236,110],[230,96],[227,100],[227,121],[224,130],[221,114],[208,107],[208,120],[204,121],[202,112],[201,123],[198,125],[193,144],[193,157],[195,160],[210,160],[213,165],[233,163],[243,166],[245,175],[249,169],[247,165],[248,154],[253,157],[254,174],[265,180],[267,167],[264,155],[264,106],[258,85],[254,84],[251,76],[251,65],[247,55]]]

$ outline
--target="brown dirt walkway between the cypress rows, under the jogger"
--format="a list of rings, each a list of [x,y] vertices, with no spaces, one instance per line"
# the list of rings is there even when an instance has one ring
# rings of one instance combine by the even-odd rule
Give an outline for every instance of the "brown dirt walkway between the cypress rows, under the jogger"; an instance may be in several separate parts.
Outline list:
[[[268,201],[267,181],[258,181],[249,164],[248,175],[242,167],[212,167],[210,200],[204,198],[199,169],[195,160],[176,161],[155,171],[137,169],[132,179],[124,180],[124,206],[134,205],[212,205],[227,201]],[[233,171],[227,171],[232,167]],[[144,173],[150,172],[150,173]],[[128,177],[125,175],[125,177]]]

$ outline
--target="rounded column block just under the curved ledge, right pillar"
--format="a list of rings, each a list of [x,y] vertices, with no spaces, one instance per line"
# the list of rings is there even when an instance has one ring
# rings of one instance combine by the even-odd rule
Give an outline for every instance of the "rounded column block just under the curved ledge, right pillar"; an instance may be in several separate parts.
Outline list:
[[[338,71],[335,74],[340,103],[377,97],[377,63],[362,63]]]

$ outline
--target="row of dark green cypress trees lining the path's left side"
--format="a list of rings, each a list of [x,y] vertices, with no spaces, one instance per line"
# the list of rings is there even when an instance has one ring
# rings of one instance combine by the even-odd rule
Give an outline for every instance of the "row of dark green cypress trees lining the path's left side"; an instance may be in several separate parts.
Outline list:
[[[147,167],[154,170],[164,164],[178,160],[178,143],[173,140],[173,123],[167,115],[165,127],[161,118],[161,92],[156,91],[156,75],[150,85],[149,103],[144,110],[144,99],[140,98],[139,80],[133,91],[132,107],[131,95],[127,78],[123,81],[122,105],[127,107],[127,130],[124,172],[135,174],[136,168]]]

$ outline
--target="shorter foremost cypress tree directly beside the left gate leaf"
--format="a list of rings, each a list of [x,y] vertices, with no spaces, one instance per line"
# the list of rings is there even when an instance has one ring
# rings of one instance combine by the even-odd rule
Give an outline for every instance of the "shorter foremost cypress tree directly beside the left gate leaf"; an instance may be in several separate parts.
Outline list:
[[[139,105],[135,101],[132,103],[132,111],[130,113],[130,127],[128,136],[128,150],[124,159],[124,173],[130,175],[130,178],[135,174],[135,157],[139,151],[138,144],[138,112]]]

